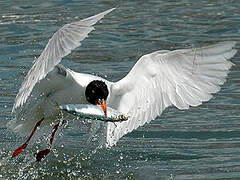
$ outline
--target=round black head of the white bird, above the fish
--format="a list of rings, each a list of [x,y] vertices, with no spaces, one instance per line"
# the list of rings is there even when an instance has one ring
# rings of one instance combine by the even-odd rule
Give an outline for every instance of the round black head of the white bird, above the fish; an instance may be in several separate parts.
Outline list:
[[[85,90],[85,96],[89,103],[99,104],[99,101],[106,101],[108,97],[108,88],[105,82],[94,80],[90,82]]]

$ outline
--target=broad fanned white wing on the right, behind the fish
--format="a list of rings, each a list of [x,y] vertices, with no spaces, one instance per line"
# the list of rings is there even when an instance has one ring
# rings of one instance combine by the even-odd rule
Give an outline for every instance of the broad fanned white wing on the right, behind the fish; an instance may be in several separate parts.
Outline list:
[[[198,49],[156,51],[142,56],[129,74],[115,83],[109,104],[130,116],[108,123],[107,146],[124,134],[150,122],[169,106],[188,109],[212,98],[233,65],[235,42]]]

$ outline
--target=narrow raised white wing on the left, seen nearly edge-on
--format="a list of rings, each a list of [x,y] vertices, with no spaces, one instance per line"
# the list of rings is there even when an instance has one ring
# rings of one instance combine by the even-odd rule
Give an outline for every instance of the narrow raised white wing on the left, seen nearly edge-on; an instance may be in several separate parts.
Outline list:
[[[109,9],[75,23],[66,24],[53,35],[25,77],[16,96],[13,112],[17,107],[22,106],[26,102],[37,82],[45,78],[48,72],[53,70],[54,66],[56,66],[64,56],[71,53],[71,50],[81,45],[80,41],[85,39],[88,33],[94,30],[92,25],[114,9],[115,8]]]

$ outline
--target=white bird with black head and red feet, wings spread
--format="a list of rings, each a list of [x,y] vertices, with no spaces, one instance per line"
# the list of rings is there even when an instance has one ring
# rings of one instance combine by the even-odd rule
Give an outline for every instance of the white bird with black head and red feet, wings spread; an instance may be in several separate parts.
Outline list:
[[[101,105],[105,115],[107,104],[127,114],[127,121],[106,123],[105,145],[111,147],[123,135],[160,116],[167,107],[189,109],[210,100],[212,94],[220,90],[233,65],[228,60],[237,52],[234,49],[236,42],[233,41],[195,49],[159,50],[143,55],[118,82],[77,73],[60,65],[61,59],[78,47],[94,29],[93,25],[113,10],[66,24],[49,40],[15,99],[13,112],[17,114],[17,119],[10,121],[8,126],[15,132],[33,130],[13,156],[26,148],[41,123],[46,125],[55,121],[59,111],[55,103]],[[41,100],[38,103],[32,100],[27,105],[31,111],[24,111],[19,107],[30,95]],[[56,130],[57,127],[54,127]]]

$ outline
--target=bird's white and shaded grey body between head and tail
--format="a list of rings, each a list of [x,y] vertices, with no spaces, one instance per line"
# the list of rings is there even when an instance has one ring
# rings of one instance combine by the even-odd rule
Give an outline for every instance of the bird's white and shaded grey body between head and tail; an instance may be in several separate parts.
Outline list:
[[[16,110],[16,119],[8,126],[15,132],[28,133],[34,124],[45,117],[43,125],[56,120],[60,115],[58,105],[87,104],[86,86],[93,80],[107,80],[91,74],[77,73],[57,65],[40,80],[32,91],[32,98],[24,107]],[[38,97],[36,100],[35,97]]]

